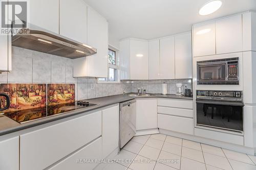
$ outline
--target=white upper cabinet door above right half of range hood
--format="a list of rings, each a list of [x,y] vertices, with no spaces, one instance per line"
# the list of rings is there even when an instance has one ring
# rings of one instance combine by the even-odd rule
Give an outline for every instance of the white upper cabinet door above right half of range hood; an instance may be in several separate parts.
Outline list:
[[[59,34],[87,44],[87,5],[84,1],[59,1]]]

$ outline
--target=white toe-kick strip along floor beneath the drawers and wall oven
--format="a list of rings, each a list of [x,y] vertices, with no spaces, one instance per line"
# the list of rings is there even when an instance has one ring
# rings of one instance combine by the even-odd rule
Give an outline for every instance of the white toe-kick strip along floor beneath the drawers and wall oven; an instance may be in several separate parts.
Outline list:
[[[168,131],[168,130],[164,130],[164,129],[159,129],[159,132],[161,134],[175,136],[175,137],[179,137],[182,139],[192,140],[192,141],[196,141],[196,142],[200,142],[200,143],[205,143],[205,144],[213,145],[215,147],[220,147],[220,148],[237,151],[237,152],[241,152],[241,153],[245,153],[245,154],[249,154],[249,155],[255,154],[254,148],[243,147],[242,145],[222,142],[219,140],[208,139],[208,138],[194,136],[194,135],[188,135],[188,134],[184,134],[184,133],[178,133],[178,132],[174,132],[174,131]]]

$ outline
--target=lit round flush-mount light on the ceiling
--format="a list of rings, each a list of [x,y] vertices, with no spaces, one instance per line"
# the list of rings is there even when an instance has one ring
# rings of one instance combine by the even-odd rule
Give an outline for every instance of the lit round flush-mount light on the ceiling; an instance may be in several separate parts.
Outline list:
[[[222,5],[222,1],[220,0],[214,0],[214,1],[209,1],[206,4],[201,7],[199,10],[200,15],[209,15],[211,13],[214,13],[217,11]]]

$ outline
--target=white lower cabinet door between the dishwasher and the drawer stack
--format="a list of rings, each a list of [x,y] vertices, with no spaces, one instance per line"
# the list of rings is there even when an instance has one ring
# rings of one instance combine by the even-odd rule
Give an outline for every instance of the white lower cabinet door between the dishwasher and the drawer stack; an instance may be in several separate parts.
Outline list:
[[[157,128],[157,99],[136,100],[136,130]]]

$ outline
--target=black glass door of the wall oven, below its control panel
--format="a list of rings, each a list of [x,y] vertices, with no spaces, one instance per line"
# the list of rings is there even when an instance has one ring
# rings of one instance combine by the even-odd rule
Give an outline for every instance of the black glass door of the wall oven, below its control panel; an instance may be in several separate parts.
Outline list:
[[[243,102],[197,99],[197,125],[243,132]]]

